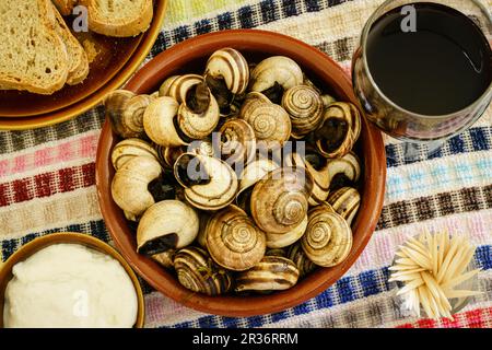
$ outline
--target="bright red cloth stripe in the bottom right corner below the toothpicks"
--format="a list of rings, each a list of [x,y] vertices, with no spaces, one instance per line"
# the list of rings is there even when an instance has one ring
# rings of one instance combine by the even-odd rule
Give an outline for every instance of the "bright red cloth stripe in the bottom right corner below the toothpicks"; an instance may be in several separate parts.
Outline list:
[[[407,323],[397,328],[485,328],[487,319],[492,315],[492,307],[476,308],[455,315],[455,319],[441,318],[440,320],[422,318],[415,323]]]

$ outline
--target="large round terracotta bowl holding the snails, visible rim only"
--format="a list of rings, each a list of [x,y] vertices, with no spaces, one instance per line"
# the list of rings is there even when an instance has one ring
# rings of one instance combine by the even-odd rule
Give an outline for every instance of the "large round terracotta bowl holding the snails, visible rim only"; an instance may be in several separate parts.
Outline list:
[[[207,58],[214,50],[226,46],[239,50],[248,61],[258,62],[274,55],[288,56],[294,59],[318,86],[341,101],[356,104],[349,77],[328,56],[294,38],[249,30],[207,34],[175,45],[148,62],[130,80],[126,89],[136,93],[152,93],[169,75],[202,73]],[[356,145],[364,165],[362,206],[353,226],[353,247],[347,260],[333,268],[318,269],[294,288],[269,295],[207,296],[194,293],[181,287],[177,279],[157,262],[137,254],[136,237],[110,195],[114,176],[110,152],[117,141],[110,125],[106,121],[97,150],[96,184],[103,217],[116,246],[153,288],[178,303],[201,312],[226,316],[260,315],[279,312],[316,296],[352,266],[371,238],[380,214],[386,178],[385,148],[379,131],[364,119],[362,136]]]

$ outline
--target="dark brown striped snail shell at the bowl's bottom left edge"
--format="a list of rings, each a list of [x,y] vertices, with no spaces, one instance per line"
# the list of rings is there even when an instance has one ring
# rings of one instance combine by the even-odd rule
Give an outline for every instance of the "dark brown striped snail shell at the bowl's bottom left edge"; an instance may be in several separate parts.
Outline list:
[[[219,295],[232,288],[231,273],[218,267],[201,248],[180,249],[174,258],[174,268],[179,283],[194,292]]]

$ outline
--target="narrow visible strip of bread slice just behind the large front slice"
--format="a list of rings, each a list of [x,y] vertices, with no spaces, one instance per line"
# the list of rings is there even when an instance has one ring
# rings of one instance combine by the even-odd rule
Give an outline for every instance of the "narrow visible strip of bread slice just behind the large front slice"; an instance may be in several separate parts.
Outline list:
[[[89,59],[84,48],[70,32],[70,28],[63,21],[58,10],[52,7],[57,22],[57,33],[67,46],[67,52],[70,62],[70,69],[67,78],[67,84],[75,85],[82,82],[89,74]]]

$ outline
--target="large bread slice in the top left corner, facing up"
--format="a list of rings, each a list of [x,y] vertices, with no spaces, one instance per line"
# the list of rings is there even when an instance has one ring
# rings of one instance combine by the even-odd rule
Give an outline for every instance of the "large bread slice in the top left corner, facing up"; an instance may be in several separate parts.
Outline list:
[[[68,77],[50,0],[0,1],[0,86],[52,94]]]

